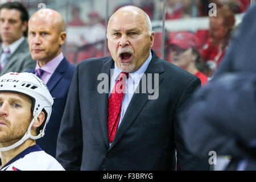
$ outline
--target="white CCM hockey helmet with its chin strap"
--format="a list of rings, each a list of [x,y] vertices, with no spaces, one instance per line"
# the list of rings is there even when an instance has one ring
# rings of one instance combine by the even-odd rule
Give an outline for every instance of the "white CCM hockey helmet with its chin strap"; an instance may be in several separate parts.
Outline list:
[[[0,148],[0,151],[11,150],[12,148],[22,144],[28,138],[38,139],[43,137],[46,124],[51,116],[53,104],[53,98],[44,82],[32,73],[10,72],[0,77],[0,92],[2,91],[23,93],[32,98],[31,108],[34,118],[32,119],[30,126],[28,126],[27,132],[22,139],[11,146]],[[41,111],[44,111],[46,118],[44,119],[42,126],[39,127],[39,134],[33,136],[30,130]]]

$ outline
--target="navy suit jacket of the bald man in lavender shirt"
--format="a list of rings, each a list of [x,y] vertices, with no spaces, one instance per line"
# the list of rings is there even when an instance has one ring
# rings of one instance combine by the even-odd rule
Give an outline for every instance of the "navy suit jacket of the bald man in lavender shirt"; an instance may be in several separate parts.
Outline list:
[[[35,69],[30,69],[27,72],[34,73],[34,71]],[[74,71],[75,65],[70,64],[64,57],[46,84],[54,101],[52,114],[46,125],[46,134],[36,140],[36,143],[53,157],[56,156],[57,135]]]

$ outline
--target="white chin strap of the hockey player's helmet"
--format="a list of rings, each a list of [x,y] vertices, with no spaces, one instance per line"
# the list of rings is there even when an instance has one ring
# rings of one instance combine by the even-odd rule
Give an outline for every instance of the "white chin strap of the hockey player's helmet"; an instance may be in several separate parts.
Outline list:
[[[38,139],[44,136],[44,130],[40,130],[40,134],[38,134],[37,136],[33,136],[30,132],[32,125],[34,124],[34,122],[36,121],[36,119],[38,118],[38,114],[35,112],[35,116],[32,119],[30,126],[28,126],[27,132],[26,134],[22,137],[22,139],[20,139],[18,142],[12,144],[11,146],[8,147],[0,147],[0,151],[8,151],[11,150],[13,148],[18,147],[20,144],[22,144],[23,142],[25,142],[28,138],[31,139]]]

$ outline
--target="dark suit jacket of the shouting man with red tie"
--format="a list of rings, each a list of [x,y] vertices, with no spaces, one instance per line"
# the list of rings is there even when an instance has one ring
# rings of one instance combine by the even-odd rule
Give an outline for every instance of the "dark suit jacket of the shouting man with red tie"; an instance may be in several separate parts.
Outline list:
[[[159,73],[159,97],[148,100],[149,93],[134,93],[109,147],[109,94],[97,92],[102,81],[97,76],[106,73],[110,79],[113,65],[111,56],[88,59],[77,65],[57,140],[56,159],[63,167],[68,170],[175,169],[176,148],[177,168],[207,169],[184,148],[177,121],[177,113],[201,82],[159,59],[153,51],[145,73]]]

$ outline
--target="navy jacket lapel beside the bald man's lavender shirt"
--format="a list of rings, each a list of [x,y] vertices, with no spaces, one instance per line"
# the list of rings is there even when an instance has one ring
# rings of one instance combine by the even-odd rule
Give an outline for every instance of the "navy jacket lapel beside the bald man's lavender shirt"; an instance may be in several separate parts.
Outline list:
[[[65,57],[64,57],[64,59],[60,62],[60,64],[55,69],[55,71],[53,72],[51,78],[49,78],[49,81],[46,84],[48,89],[49,89],[49,92],[51,92],[51,90],[56,86],[57,82],[62,77],[61,73],[65,72],[67,67],[68,67],[68,60],[65,59]]]

